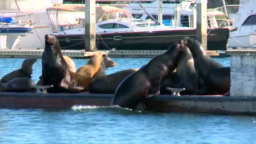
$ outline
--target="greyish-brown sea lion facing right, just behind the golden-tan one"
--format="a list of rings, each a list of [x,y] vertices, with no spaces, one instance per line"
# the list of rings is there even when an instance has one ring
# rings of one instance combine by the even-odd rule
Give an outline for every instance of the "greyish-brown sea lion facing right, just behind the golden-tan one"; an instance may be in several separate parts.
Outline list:
[[[99,70],[93,75],[93,78],[98,78],[106,75],[106,69],[109,67],[115,67],[117,63],[115,61],[112,61],[108,56],[104,56],[104,60],[101,61],[101,66],[99,67]]]

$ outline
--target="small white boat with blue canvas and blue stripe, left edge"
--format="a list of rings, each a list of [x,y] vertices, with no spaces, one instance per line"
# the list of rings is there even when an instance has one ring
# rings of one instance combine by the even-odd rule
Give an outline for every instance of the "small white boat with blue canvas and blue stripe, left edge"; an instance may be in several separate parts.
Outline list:
[[[0,17],[0,49],[13,49],[33,29],[31,21],[16,22],[11,14],[2,13]]]

